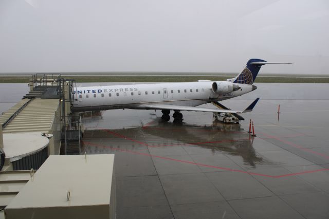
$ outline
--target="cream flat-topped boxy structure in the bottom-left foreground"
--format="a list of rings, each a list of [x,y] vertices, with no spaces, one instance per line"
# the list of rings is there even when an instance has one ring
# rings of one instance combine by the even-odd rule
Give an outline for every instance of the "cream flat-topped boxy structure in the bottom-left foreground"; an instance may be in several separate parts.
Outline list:
[[[6,207],[7,218],[109,218],[113,177],[114,154],[49,156]]]

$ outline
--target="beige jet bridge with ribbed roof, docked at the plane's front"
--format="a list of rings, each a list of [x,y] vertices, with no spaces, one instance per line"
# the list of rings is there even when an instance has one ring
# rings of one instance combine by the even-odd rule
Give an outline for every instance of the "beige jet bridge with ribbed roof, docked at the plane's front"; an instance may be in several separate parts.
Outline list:
[[[80,117],[70,115],[77,100],[74,80],[60,74],[35,74],[29,87],[29,93],[0,116],[0,170],[29,170],[35,163],[33,168],[38,169],[49,155],[59,155],[61,148],[64,154],[80,153]],[[20,134],[22,142],[10,144],[12,134]],[[28,148],[24,142],[33,135],[46,136],[49,143]]]

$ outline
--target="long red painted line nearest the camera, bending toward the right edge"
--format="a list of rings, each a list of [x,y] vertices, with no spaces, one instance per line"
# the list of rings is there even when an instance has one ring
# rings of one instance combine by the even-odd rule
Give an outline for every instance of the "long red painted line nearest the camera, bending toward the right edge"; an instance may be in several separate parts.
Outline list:
[[[231,171],[231,172],[247,173],[247,174],[250,174],[250,175],[264,176],[264,177],[270,177],[270,178],[282,178],[282,177],[287,177],[287,176],[295,176],[295,175],[302,175],[302,174],[306,174],[306,173],[314,173],[314,172],[329,170],[329,169],[319,169],[319,170],[304,171],[304,172],[299,172],[299,173],[290,173],[290,174],[272,176],[272,175],[267,175],[267,174],[262,174],[262,173],[254,173],[254,172],[236,170],[236,169],[225,168],[225,167],[205,165],[203,163],[195,163],[195,162],[188,161],[188,160],[178,160],[178,159],[174,159],[174,158],[170,158],[170,157],[162,157],[162,156],[151,155],[151,154],[147,154],[147,153],[130,151],[130,150],[126,150],[126,149],[113,148],[113,147],[110,147],[110,146],[107,146],[107,145],[96,144],[96,143],[92,143],[92,142],[88,142],[88,141],[83,141],[83,142],[87,143],[87,145],[89,145],[89,146],[103,147],[103,148],[108,148],[108,149],[115,150],[115,151],[120,151],[120,152],[127,152],[127,153],[138,154],[138,155],[143,155],[143,156],[148,156],[148,157],[155,157],[155,158],[159,158],[159,159],[170,160],[170,161],[175,161],[175,162],[180,162],[180,163],[188,163],[188,164],[191,164],[191,165],[197,165],[197,166],[208,167],[208,168],[215,168],[215,169],[220,169],[220,170],[227,170],[227,171]]]

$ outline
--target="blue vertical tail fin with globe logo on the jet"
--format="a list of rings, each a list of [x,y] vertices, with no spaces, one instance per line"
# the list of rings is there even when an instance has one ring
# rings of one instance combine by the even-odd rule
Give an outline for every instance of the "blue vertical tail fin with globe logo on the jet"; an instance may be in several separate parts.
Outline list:
[[[262,63],[264,62],[264,63]],[[237,77],[233,78],[233,79],[228,79],[228,81],[231,81],[233,83],[237,83],[237,84],[252,84],[256,77],[257,74],[259,72],[259,70],[261,69],[262,65],[265,65],[266,61],[261,60],[261,59],[250,59],[247,62],[247,66],[245,67],[245,69],[243,69],[243,71],[240,73],[240,75],[238,75]]]

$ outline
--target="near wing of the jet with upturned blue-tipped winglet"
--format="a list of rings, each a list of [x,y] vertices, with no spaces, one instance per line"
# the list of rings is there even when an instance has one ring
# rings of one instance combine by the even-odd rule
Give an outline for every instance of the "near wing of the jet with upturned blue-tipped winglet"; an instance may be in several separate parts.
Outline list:
[[[194,107],[194,106],[182,106],[182,105],[156,104],[156,103],[139,104],[136,108],[169,109],[169,110],[177,110],[177,111],[199,111],[199,112],[213,112],[213,113],[247,113],[252,111],[253,107],[256,105],[258,100],[259,98],[255,99],[244,111],[234,111],[231,109],[203,108],[203,107]]]

